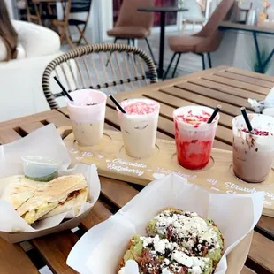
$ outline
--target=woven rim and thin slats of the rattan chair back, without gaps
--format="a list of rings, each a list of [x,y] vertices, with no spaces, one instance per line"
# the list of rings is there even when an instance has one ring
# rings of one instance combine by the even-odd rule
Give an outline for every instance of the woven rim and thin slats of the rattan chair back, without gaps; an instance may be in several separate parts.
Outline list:
[[[100,53],[100,52],[105,52],[109,54],[109,57],[111,54],[115,55],[116,53],[128,53],[128,54],[132,54],[132,60],[134,61],[133,64],[135,63],[135,58],[138,61],[138,64],[141,65],[141,75],[138,75],[139,73],[136,70],[136,67],[134,67],[134,72],[135,72],[135,76],[133,77],[129,72],[128,72],[128,65],[126,66],[126,70],[127,70],[127,79],[122,78],[124,75],[122,75],[123,73],[120,73],[120,79],[114,79],[113,81],[108,81],[108,77],[105,75],[105,63],[103,63],[103,59],[101,58],[101,63],[104,65],[103,71],[104,71],[104,82],[100,82],[101,79],[100,77],[98,77],[97,75],[97,71],[95,69],[95,74],[96,74],[96,80],[97,80],[97,84],[93,84],[91,85],[87,85],[85,80],[83,79],[83,72],[81,72],[80,70],[80,65],[77,63],[77,58],[78,57],[83,57],[83,62],[86,68],[86,71],[88,71],[88,76],[90,76],[90,72],[88,69],[88,61],[87,61],[87,56],[91,55],[92,53]],[[77,68],[77,72],[80,74],[80,85],[81,87],[79,87],[78,84],[78,80],[76,80],[77,76],[75,77],[74,73],[72,72],[72,67],[71,67],[71,62],[67,62],[67,61],[71,61],[74,60],[76,63],[76,68]],[[124,58],[124,62],[126,61],[126,58]],[[145,72],[144,67],[142,66],[142,62],[145,63],[148,66],[148,72]],[[132,84],[133,86],[133,82],[139,82],[141,80],[146,80],[147,81],[147,75],[149,75],[149,79],[150,79],[150,84],[156,83],[158,81],[157,78],[157,72],[156,72],[156,66],[154,65],[154,62],[152,61],[151,57],[148,56],[147,53],[145,53],[143,50],[138,49],[136,47],[133,46],[128,46],[126,44],[94,44],[94,45],[88,45],[88,46],[82,46],[76,49],[72,49],[71,51],[55,58],[53,61],[51,61],[49,63],[49,65],[46,67],[45,71],[43,72],[43,76],[42,76],[42,88],[43,88],[43,92],[44,95],[49,103],[49,107],[51,109],[57,109],[59,106],[57,104],[56,98],[59,96],[62,96],[63,94],[53,94],[52,91],[50,90],[50,78],[51,78],[51,74],[53,72],[56,72],[56,68],[57,66],[61,66],[63,73],[65,74],[65,70],[64,70],[64,63],[69,65],[69,70],[70,73],[72,74],[71,80],[74,80],[75,86],[77,87],[76,89],[73,90],[77,90],[80,88],[93,88],[93,89],[101,89],[101,88],[110,88],[110,87],[118,87],[120,85],[123,84]],[[94,63],[91,62],[91,65],[93,65],[94,67]],[[110,59],[110,67],[111,70],[113,70],[112,67],[112,62]],[[120,68],[119,68],[120,70]],[[116,75],[116,73],[113,73],[114,75]],[[59,76],[57,75],[57,78],[59,78]],[[65,80],[67,82],[67,86],[71,87],[68,77],[65,75]],[[91,82],[91,79],[90,79]],[[147,81],[148,83],[148,81]],[[140,84],[140,83],[139,83]],[[141,87],[141,86],[140,86]],[[72,88],[69,88],[70,92],[73,91]]]

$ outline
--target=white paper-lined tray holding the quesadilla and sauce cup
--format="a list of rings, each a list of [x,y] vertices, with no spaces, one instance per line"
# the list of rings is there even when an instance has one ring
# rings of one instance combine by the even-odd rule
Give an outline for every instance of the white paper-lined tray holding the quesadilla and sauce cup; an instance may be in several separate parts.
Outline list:
[[[88,184],[89,199],[80,209],[78,216],[70,211],[35,222],[32,226],[27,225],[26,221],[19,217],[9,202],[0,199],[0,236],[11,243],[61,232],[80,225],[100,194],[100,181],[95,164],[77,164],[73,169],[68,169],[71,158],[54,125],[43,126],[19,141],[0,146],[0,179],[23,174],[21,156],[28,155],[48,156],[61,162],[58,169],[59,176],[83,174]],[[0,197],[3,189],[4,185],[0,185]]]

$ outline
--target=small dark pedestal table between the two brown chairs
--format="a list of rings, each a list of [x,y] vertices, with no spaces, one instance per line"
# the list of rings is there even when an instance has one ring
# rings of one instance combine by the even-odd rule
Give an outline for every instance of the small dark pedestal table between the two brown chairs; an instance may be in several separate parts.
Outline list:
[[[159,54],[159,67],[158,67],[158,76],[160,79],[164,76],[164,34],[165,34],[165,14],[166,12],[182,12],[188,11],[187,9],[181,9],[179,7],[143,7],[139,8],[138,11],[144,12],[160,12],[160,54]]]

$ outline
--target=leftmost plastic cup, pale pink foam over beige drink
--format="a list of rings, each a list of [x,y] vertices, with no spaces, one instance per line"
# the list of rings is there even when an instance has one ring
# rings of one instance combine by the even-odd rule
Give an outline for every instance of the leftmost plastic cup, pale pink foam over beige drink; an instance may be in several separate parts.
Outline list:
[[[107,96],[98,90],[80,89],[71,93],[73,102],[66,99],[72,129],[80,146],[94,146],[103,137]]]

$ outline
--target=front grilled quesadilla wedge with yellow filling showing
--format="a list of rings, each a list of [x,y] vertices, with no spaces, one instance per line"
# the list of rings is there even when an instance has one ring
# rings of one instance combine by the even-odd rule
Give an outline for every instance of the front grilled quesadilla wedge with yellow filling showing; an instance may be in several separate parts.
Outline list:
[[[31,225],[59,205],[65,205],[70,197],[76,197],[81,190],[87,189],[87,182],[83,175],[74,174],[53,179],[34,192],[34,197],[23,203],[17,210],[27,224]],[[68,202],[72,200],[69,199]],[[59,212],[60,213],[60,212]]]

